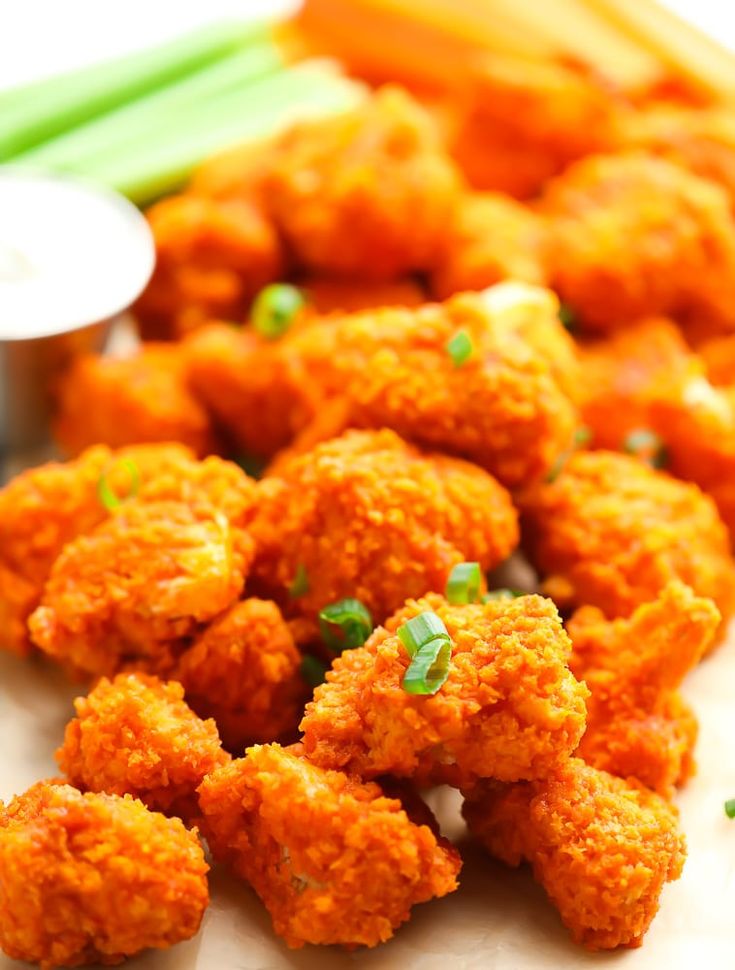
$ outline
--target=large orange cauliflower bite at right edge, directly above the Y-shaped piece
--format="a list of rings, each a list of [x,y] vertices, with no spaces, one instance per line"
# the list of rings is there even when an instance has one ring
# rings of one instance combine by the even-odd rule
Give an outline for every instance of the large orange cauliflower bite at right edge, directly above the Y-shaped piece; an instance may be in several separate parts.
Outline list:
[[[562,609],[629,616],[672,580],[735,607],[735,564],[714,502],[628,455],[577,452],[520,498],[526,551]]]

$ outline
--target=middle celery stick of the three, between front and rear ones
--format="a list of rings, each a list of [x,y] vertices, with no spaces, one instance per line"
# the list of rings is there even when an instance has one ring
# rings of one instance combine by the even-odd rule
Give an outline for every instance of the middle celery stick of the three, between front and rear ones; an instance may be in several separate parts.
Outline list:
[[[272,41],[237,51],[181,81],[137,98],[78,128],[23,152],[14,165],[74,169],[93,165],[100,157],[116,156],[155,137],[162,125],[185,122],[198,106],[275,73],[284,66]]]

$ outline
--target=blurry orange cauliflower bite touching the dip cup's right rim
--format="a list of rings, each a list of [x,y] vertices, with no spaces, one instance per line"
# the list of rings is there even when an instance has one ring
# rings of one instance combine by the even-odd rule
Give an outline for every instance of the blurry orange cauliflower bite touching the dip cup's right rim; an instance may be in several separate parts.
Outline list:
[[[239,320],[261,287],[284,269],[270,220],[244,198],[184,193],[147,213],[156,269],[135,305],[148,340],[171,340],[212,319]]]

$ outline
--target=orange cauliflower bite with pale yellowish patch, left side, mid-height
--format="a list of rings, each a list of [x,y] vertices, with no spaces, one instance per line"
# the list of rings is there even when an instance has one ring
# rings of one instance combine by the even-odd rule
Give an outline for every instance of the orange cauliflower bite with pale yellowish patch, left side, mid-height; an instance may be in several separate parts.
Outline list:
[[[31,638],[85,674],[165,673],[183,639],[238,599],[252,553],[211,505],[133,499],[64,548]]]

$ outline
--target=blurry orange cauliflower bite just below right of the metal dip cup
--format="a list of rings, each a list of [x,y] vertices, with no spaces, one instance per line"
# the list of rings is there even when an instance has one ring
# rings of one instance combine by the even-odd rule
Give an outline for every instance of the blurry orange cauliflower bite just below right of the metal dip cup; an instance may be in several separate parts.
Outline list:
[[[68,455],[144,441],[180,441],[202,456],[216,450],[209,416],[187,386],[186,361],[171,344],[77,358],[57,389],[54,436]]]

